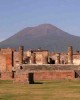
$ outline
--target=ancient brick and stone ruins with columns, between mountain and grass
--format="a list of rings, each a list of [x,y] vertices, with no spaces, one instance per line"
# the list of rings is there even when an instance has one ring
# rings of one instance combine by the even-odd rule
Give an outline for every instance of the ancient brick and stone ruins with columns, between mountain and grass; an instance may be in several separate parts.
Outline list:
[[[34,83],[35,80],[80,78],[80,53],[72,46],[66,53],[48,50],[0,49],[0,79]]]

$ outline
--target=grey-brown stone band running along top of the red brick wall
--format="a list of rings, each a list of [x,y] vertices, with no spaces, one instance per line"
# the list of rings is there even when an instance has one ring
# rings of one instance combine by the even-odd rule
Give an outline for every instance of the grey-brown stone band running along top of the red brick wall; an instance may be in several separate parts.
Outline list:
[[[52,70],[80,70],[80,65],[73,65],[73,64],[23,64],[22,71],[52,71]],[[16,71],[20,71],[19,69]]]

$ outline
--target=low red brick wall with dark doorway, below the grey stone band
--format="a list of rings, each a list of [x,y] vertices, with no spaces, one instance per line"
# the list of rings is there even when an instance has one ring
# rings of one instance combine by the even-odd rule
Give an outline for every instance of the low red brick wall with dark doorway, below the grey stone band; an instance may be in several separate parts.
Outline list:
[[[15,73],[14,82],[30,83],[36,80],[62,80],[75,78],[73,70],[55,70],[55,71],[18,71]]]

